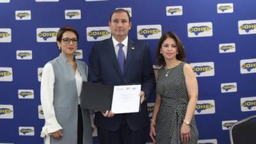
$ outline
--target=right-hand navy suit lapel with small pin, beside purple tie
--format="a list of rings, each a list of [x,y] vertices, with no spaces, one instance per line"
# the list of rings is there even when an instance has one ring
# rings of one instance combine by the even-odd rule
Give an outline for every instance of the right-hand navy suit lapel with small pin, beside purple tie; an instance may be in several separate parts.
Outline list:
[[[134,55],[134,52],[136,51],[136,47],[134,47],[134,41],[133,40],[129,40],[128,41],[128,47],[127,47],[127,56],[126,56],[126,60],[125,60],[125,65],[124,65],[124,74],[127,71],[129,64],[132,61],[132,57]]]

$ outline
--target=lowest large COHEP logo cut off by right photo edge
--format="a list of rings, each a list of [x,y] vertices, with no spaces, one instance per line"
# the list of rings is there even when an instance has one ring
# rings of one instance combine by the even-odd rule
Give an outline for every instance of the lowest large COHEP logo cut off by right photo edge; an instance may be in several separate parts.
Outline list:
[[[256,111],[256,97],[243,97],[241,101],[241,111]]]

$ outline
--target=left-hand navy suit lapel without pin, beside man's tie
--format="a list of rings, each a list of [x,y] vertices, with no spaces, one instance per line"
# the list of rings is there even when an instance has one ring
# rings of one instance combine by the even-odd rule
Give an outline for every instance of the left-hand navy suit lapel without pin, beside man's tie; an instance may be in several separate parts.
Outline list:
[[[109,59],[113,62],[113,65],[116,68],[116,71],[120,76],[122,76],[122,72],[120,70],[120,67],[116,58],[116,52],[115,52],[115,47],[114,47],[112,38],[108,39],[108,45],[105,47],[105,49],[109,56]]]

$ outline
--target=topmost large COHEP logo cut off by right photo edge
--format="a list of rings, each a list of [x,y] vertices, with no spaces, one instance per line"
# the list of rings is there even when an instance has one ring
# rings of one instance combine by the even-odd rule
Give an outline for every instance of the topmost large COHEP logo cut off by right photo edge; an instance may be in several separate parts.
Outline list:
[[[256,20],[239,20],[238,33],[239,35],[256,34]]]

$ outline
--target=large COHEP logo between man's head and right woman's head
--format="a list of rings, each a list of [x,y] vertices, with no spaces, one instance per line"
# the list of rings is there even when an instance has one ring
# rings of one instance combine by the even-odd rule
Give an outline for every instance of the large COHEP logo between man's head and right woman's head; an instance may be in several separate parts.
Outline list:
[[[137,38],[139,40],[159,39],[161,35],[162,26],[160,24],[137,26]]]

